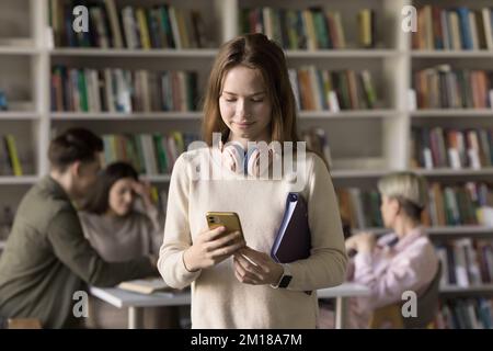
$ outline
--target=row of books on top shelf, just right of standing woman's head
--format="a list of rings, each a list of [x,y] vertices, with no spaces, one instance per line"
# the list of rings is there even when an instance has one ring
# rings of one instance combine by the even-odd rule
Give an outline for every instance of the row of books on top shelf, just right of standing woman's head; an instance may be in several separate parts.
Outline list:
[[[359,46],[375,47],[375,11],[363,9],[357,14]],[[346,36],[341,13],[320,7],[309,9],[242,9],[241,33],[264,33],[285,49],[343,49]]]

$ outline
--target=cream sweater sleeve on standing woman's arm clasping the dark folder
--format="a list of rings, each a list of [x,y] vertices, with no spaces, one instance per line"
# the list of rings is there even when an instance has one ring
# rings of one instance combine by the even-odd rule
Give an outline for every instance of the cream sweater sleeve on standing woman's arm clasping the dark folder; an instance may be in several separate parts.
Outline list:
[[[307,203],[311,254],[286,264],[293,275],[288,290],[293,291],[340,285],[346,276],[347,256],[331,176],[316,155],[309,167]]]

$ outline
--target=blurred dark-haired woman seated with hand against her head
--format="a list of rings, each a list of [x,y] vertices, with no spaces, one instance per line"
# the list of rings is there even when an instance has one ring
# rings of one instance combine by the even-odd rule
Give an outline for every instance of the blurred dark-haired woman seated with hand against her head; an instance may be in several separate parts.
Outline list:
[[[158,254],[164,219],[151,201],[150,186],[138,179],[126,162],[107,166],[100,174],[79,217],[85,237],[108,262],[121,262],[142,254]],[[141,208],[137,208],[136,200]],[[158,312],[162,315],[158,318]],[[170,312],[146,309],[146,327],[163,325]],[[88,327],[125,328],[126,312],[91,299]]]

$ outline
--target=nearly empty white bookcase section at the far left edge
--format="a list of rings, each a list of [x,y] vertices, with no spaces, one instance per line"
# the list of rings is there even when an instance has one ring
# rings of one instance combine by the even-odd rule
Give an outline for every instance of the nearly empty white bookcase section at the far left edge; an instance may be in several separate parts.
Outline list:
[[[47,82],[42,41],[46,23],[44,5],[37,0],[0,3],[0,90],[7,92],[10,109],[0,112],[0,135],[14,135],[24,163],[22,177],[0,174],[0,206],[15,206],[19,195],[38,180],[45,163],[46,149],[41,148],[46,145],[44,106],[49,92],[44,88]]]

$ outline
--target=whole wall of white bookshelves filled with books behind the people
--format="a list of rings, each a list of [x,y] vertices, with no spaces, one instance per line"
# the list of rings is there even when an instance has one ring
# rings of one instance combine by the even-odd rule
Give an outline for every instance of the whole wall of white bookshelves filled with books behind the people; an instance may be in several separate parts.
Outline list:
[[[71,30],[77,4],[89,33]],[[401,29],[408,4],[414,34]],[[492,27],[491,0],[2,0],[0,251],[69,126],[101,135],[104,162],[130,161],[164,211],[218,46],[263,32],[285,48],[299,134],[329,161],[352,227],[386,233],[381,176],[425,176],[443,267],[435,327],[491,328]]]

